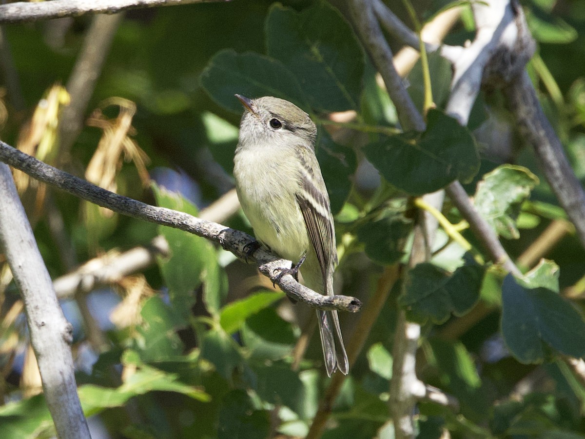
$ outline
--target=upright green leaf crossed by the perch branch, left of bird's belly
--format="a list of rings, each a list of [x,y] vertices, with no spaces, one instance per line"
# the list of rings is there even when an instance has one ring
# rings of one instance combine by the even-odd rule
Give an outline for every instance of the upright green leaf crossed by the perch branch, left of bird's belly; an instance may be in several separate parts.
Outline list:
[[[156,184],[152,188],[159,206],[197,216],[197,208],[180,194]],[[215,258],[214,249],[207,239],[179,229],[159,226],[159,232],[167,240],[171,254],[169,258],[157,257],[157,263],[174,309],[186,319],[195,304],[195,289],[201,285],[205,265]]]

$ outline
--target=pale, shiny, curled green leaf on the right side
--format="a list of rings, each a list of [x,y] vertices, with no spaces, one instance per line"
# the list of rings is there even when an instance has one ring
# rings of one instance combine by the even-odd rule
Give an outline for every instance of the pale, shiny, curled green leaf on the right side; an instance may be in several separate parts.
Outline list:
[[[504,164],[483,176],[477,184],[474,204],[498,235],[518,239],[516,220],[522,203],[538,184],[538,178],[522,166]]]

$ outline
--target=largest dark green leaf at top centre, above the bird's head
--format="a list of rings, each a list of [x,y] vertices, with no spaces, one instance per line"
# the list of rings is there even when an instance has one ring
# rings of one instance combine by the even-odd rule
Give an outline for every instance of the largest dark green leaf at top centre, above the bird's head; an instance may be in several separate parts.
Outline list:
[[[363,53],[352,28],[325,1],[298,13],[274,4],[266,18],[267,53],[298,78],[312,108],[359,109]]]

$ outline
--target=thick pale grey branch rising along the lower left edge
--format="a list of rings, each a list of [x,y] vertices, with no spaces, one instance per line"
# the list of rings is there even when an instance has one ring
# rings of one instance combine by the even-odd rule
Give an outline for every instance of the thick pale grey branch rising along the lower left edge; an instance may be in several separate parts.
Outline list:
[[[0,196],[0,244],[25,303],[30,340],[57,436],[90,438],[75,385],[70,348],[73,327],[61,311],[12,173],[4,163],[0,164]]]

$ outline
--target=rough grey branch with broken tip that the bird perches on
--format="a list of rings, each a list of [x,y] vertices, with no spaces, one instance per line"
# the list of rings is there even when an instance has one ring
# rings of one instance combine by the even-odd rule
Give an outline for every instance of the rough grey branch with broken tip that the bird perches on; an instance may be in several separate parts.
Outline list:
[[[255,262],[259,265],[261,272],[270,277],[273,283],[278,284],[289,297],[302,301],[311,307],[355,313],[362,305],[355,297],[322,296],[296,282],[291,275],[278,276],[281,269],[291,267],[291,261],[280,259],[263,248],[258,249],[253,255],[247,255],[245,246],[254,242],[254,238],[242,231],[225,227],[216,222],[192,217],[184,212],[152,206],[112,193],[86,180],[40,162],[35,157],[26,155],[1,141],[0,160],[37,180],[57,186],[70,194],[102,207],[107,207],[114,212],[142,219],[143,221],[181,229],[218,242],[223,248],[234,253],[239,258]]]

